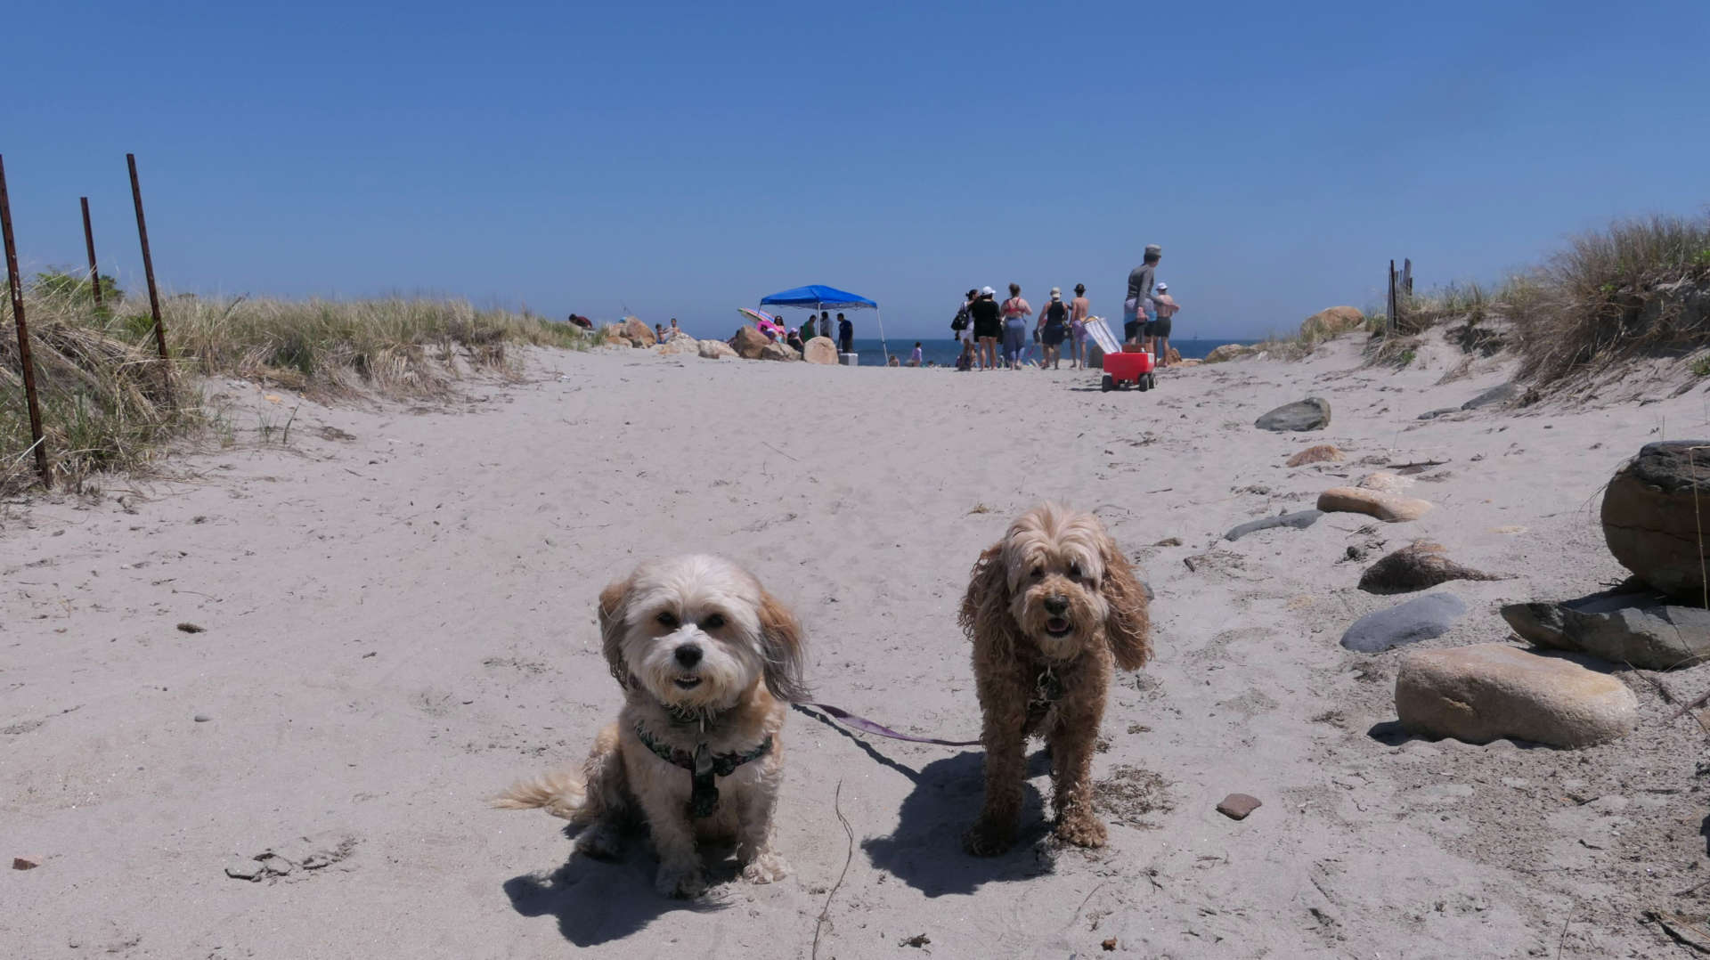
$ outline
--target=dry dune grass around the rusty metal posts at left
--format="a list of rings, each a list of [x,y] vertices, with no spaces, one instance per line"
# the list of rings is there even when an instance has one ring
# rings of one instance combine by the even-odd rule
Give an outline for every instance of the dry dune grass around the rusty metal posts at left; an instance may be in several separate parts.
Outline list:
[[[568,323],[457,299],[212,299],[161,305],[171,363],[154,346],[147,299],[97,310],[87,284],[31,284],[24,315],[55,486],[140,471],[215,414],[198,376],[234,376],[323,395],[441,397],[472,371],[515,375],[513,347],[587,349]],[[38,481],[10,298],[0,317],[0,491]]]

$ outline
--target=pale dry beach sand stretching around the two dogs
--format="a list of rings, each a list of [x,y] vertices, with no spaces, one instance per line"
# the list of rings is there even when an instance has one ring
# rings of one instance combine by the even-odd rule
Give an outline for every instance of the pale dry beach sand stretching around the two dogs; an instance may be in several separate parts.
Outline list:
[[[840,796],[853,861],[821,957],[922,934],[934,957],[1667,955],[1645,910],[1707,909],[1678,895],[1710,880],[1705,732],[1623,673],[1643,720],[1607,746],[1387,734],[1399,654],[1337,638],[1397,599],[1339,560],[1428,536],[1513,573],[1438,587],[1471,613],[1428,645],[1501,642],[1501,602],[1621,577],[1599,488],[1648,440],[1710,433],[1705,392],[1419,423],[1507,376],[1438,385],[1447,363],[1363,370],[1341,342],[1106,395],[1069,371],[537,353],[453,404],[303,402],[289,445],[255,428],[294,395],[210,383],[238,445],[173,460],[183,479],[0,508],[0,856],[41,862],[0,880],[3,953],[805,957],[850,849]],[[1253,430],[1305,395],[1329,430]],[[1349,462],[1282,465],[1318,441]],[[1419,522],[1221,539],[1419,460],[1445,460],[1409,491],[1436,503]],[[660,900],[650,856],[564,866],[561,821],[482,806],[616,712],[595,594],[663,553],[728,554],[792,602],[821,700],[975,736],[956,604],[1041,498],[1096,510],[1158,594],[1158,659],[1118,676],[1096,758],[1108,849],[1052,850],[1033,792],[1024,842],[970,859],[978,750],[804,714],[778,885]],[[1710,669],[1660,683],[1684,700]],[[1235,791],[1264,806],[1218,815]],[[333,862],[226,876],[298,837]]]

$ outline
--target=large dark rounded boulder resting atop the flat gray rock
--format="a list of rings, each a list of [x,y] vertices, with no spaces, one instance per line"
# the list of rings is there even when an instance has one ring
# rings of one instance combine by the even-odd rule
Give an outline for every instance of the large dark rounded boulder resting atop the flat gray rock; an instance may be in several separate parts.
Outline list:
[[[1705,604],[1710,440],[1640,448],[1604,488],[1602,525],[1621,566],[1678,601]]]

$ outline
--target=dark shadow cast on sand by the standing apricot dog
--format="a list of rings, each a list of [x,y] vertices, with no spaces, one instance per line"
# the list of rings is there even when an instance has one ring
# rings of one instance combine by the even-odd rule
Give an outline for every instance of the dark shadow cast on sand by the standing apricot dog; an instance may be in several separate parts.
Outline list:
[[[920,770],[874,750],[872,743],[802,710],[848,738],[870,760],[908,777],[915,785],[898,811],[896,832],[869,837],[860,847],[874,868],[889,873],[927,897],[973,893],[985,883],[1031,880],[1052,871],[1050,823],[1045,799],[1031,782],[1023,787],[1021,832],[1009,852],[976,857],[963,850],[961,837],[973,827],[985,799],[985,751],[966,750],[934,760]],[[1028,777],[1050,772],[1045,750],[1028,758]]]

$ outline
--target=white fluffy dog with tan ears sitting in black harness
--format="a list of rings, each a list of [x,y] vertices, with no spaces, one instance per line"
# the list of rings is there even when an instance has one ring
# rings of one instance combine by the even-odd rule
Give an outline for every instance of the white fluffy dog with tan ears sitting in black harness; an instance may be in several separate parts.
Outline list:
[[[783,717],[802,688],[802,628],[751,573],[718,556],[643,563],[600,590],[600,637],[624,690],[580,773],[511,785],[494,806],[544,808],[587,828],[576,852],[617,856],[645,821],[655,888],[706,888],[698,842],[735,842],[742,876],[788,874],[773,852]]]

